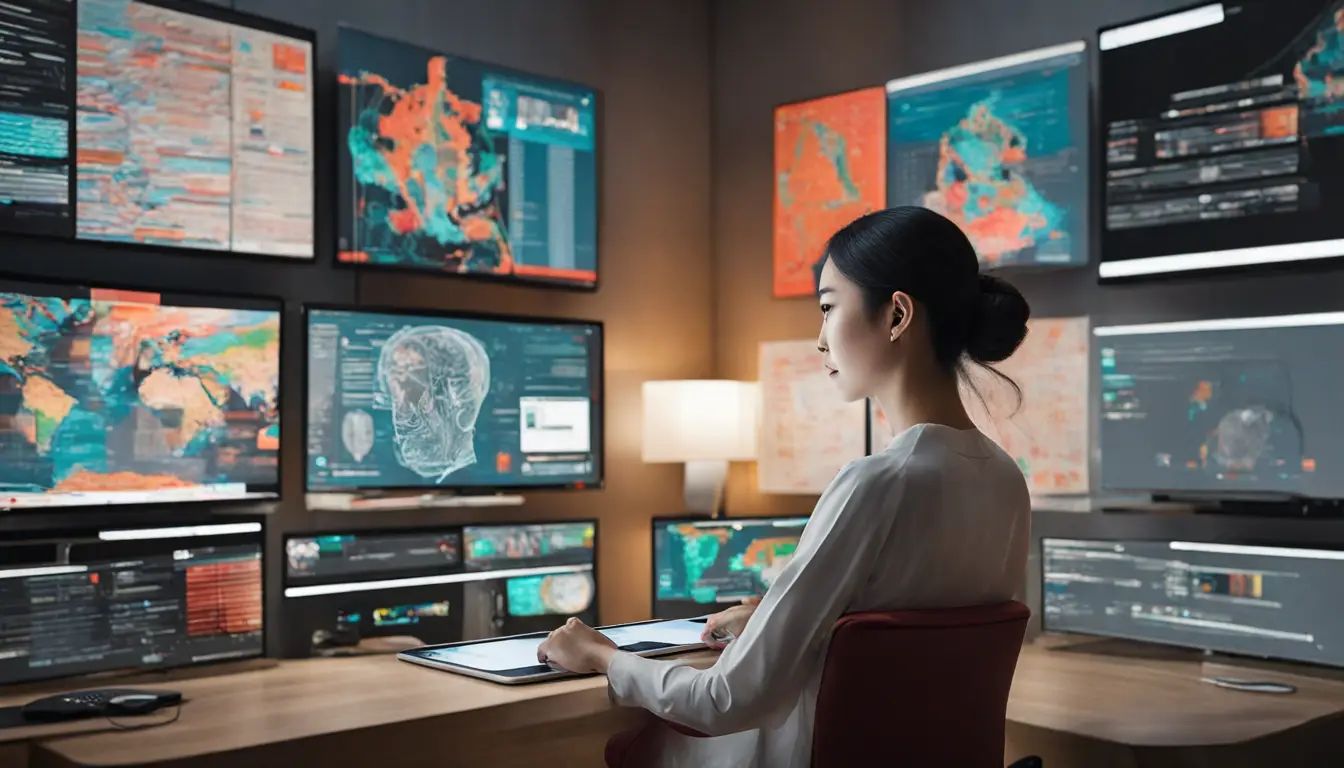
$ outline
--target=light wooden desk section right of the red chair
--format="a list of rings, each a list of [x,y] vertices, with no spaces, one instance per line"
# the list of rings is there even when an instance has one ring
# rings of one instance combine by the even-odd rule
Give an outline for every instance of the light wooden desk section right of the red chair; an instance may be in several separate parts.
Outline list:
[[[1058,638],[1023,646],[1008,701],[1009,760],[1040,755],[1048,768],[1344,765],[1344,681],[1089,646],[1103,647]],[[1206,674],[1282,679],[1298,690],[1234,691],[1200,682]]]

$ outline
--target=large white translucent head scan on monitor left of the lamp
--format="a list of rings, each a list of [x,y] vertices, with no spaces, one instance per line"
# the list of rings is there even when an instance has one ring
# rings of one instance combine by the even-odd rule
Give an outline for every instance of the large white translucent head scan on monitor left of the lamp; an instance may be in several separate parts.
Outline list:
[[[406,327],[378,356],[378,398],[391,408],[396,460],[442,483],[476,464],[476,418],[491,389],[491,360],[472,336],[444,325]]]

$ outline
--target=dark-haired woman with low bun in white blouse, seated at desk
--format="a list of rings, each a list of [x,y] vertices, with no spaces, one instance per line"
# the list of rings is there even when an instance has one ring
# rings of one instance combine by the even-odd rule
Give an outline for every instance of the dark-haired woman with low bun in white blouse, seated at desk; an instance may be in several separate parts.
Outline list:
[[[919,207],[878,211],[836,233],[817,299],[831,381],[847,401],[876,399],[896,437],[840,471],[759,604],[711,619],[707,640],[715,629],[735,636],[718,662],[695,670],[620,652],[577,619],[538,650],[564,668],[605,673],[618,703],[711,736],[657,724],[632,745],[629,764],[808,765],[840,615],[982,605],[1021,592],[1027,484],[976,430],[957,379],[968,363],[988,366],[1017,348],[1027,301],[980,274],[961,230]]]

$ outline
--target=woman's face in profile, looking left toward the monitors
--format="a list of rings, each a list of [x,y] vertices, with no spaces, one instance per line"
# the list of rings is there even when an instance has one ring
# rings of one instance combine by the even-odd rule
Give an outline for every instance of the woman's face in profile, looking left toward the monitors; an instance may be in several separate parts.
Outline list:
[[[828,258],[817,282],[821,334],[817,346],[831,381],[845,402],[870,397],[891,375],[891,323],[883,311],[870,312],[859,286]]]

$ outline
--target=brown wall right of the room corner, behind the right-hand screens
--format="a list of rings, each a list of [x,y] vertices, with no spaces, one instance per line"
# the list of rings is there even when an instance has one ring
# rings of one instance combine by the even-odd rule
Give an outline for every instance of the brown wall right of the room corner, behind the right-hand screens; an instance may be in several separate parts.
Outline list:
[[[812,339],[818,330],[816,301],[770,296],[775,105],[1068,40],[1087,40],[1091,48],[1101,26],[1183,5],[1188,3],[835,0],[823,9],[808,0],[716,0],[711,89],[716,374],[754,379],[761,342]],[[1105,288],[1097,285],[1094,268],[1019,272],[1009,278],[1035,315],[1091,313],[1116,323],[1337,309],[1344,296],[1339,268]],[[755,488],[755,465],[734,467],[728,514],[806,514],[816,502]]]

